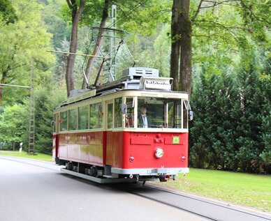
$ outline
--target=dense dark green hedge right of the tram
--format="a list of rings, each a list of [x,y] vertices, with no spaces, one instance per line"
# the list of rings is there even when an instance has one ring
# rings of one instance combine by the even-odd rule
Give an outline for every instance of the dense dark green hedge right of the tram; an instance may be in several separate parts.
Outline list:
[[[191,97],[192,167],[271,172],[271,75],[265,70],[200,75]]]

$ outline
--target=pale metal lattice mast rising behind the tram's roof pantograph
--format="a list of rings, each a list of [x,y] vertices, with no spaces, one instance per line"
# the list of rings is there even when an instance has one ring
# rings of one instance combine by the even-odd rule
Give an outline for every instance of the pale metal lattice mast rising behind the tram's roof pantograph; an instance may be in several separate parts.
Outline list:
[[[112,29],[117,29],[117,6],[112,5],[111,10],[111,26]],[[113,80],[116,79],[117,75],[117,61],[116,61],[116,54],[117,54],[117,32],[112,31],[111,32],[111,38],[110,38],[110,72],[112,77],[114,77]]]

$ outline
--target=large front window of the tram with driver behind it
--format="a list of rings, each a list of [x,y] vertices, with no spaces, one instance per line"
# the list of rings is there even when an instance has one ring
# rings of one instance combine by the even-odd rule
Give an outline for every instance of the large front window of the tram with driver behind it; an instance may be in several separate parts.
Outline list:
[[[181,99],[140,97],[138,128],[186,128],[184,112]]]

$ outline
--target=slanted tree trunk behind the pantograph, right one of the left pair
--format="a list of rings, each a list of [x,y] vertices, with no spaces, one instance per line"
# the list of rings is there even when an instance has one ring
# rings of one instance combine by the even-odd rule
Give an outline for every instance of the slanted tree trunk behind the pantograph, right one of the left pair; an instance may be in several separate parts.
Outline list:
[[[101,23],[100,23],[100,28],[105,27],[105,22],[108,19],[108,8],[109,8],[110,1],[111,0],[105,0],[105,4],[103,6],[103,15],[102,15]],[[94,55],[94,56],[97,55],[98,46],[101,45],[102,40],[103,40],[103,29],[99,29],[97,43],[96,43],[96,45],[94,47],[94,50],[91,53],[91,55]],[[91,77],[92,67],[93,67],[94,61],[95,61],[94,56],[89,56],[89,60],[87,61],[87,68],[86,68],[86,77],[87,77],[87,79],[89,79]],[[87,82],[86,82],[86,80],[84,78],[83,83],[82,83],[82,89],[86,89],[86,88],[87,88]]]

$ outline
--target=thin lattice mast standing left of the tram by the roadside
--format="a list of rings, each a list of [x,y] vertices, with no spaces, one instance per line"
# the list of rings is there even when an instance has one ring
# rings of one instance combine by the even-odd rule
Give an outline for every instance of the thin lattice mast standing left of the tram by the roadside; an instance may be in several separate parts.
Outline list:
[[[29,89],[29,141],[28,153],[35,154],[35,96],[34,96],[34,61],[31,60],[31,87]]]

